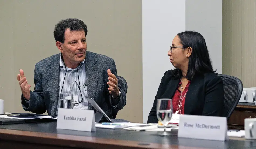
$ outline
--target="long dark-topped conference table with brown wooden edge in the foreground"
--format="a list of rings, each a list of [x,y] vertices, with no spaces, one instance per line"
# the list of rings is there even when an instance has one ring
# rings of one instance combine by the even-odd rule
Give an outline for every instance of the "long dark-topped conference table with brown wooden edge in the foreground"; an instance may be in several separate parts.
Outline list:
[[[0,148],[208,149],[256,148],[256,141],[230,138],[212,141],[158,136],[157,131],[99,129],[84,132],[56,129],[57,122],[0,125]],[[210,135],[210,134],[209,134]]]

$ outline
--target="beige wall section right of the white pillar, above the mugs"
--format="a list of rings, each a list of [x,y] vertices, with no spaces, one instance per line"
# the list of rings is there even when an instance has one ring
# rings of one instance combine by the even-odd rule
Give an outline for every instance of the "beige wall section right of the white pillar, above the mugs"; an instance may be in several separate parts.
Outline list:
[[[256,87],[256,0],[223,0],[223,74]]]

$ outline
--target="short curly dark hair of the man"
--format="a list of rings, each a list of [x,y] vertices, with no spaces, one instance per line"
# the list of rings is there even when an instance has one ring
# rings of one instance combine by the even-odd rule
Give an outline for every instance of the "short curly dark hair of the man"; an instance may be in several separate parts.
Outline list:
[[[54,31],[53,31],[54,39],[56,42],[59,41],[61,43],[64,43],[65,41],[64,34],[67,28],[69,28],[70,31],[83,30],[85,33],[85,36],[87,35],[87,31],[88,31],[86,24],[82,20],[79,20],[76,18],[68,18],[65,20],[61,20],[55,25]]]

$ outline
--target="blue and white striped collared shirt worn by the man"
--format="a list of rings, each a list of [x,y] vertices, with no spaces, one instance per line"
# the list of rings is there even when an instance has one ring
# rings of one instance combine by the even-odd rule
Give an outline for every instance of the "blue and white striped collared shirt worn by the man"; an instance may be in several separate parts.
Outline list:
[[[66,68],[67,68],[67,74],[65,77],[66,73]],[[78,71],[78,74],[77,74]],[[86,83],[86,73],[85,73],[85,59],[83,62],[80,63],[77,68],[72,69],[65,67],[64,62],[61,59],[61,54],[60,54],[60,80],[59,80],[59,94],[61,92],[62,84],[63,84],[63,89],[61,93],[72,93],[73,96],[78,96],[78,102],[82,100],[81,93],[83,96],[84,101],[79,103],[78,105],[74,105],[74,109],[80,109],[80,110],[88,110],[88,101],[85,99],[85,96],[87,95],[87,86],[83,86]],[[80,90],[79,91],[78,85],[79,85],[79,80],[78,80],[78,75],[79,75],[79,80],[80,80]],[[64,80],[65,77],[65,80]],[[76,83],[76,82],[77,83]],[[77,85],[78,84],[78,85]]]

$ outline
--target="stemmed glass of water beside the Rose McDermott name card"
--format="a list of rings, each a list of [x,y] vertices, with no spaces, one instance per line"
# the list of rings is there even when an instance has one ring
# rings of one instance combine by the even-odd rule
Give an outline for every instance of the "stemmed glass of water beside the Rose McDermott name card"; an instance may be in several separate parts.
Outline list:
[[[169,136],[166,126],[172,118],[172,99],[157,99],[157,119],[164,125],[164,132],[161,136]]]

